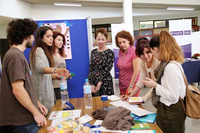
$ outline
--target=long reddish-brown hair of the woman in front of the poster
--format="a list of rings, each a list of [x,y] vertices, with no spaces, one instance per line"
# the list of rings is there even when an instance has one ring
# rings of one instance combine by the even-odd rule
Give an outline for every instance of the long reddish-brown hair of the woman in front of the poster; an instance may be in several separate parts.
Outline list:
[[[62,57],[67,57],[67,55],[65,54],[65,49],[64,49],[64,46],[66,45],[66,40],[65,40],[65,36],[60,33],[60,32],[57,32],[57,31],[54,31],[53,32],[53,48],[52,48],[52,52],[53,54],[55,54],[55,39],[56,37],[58,36],[61,36],[63,38],[63,45],[61,48],[59,48],[59,54],[62,56]]]

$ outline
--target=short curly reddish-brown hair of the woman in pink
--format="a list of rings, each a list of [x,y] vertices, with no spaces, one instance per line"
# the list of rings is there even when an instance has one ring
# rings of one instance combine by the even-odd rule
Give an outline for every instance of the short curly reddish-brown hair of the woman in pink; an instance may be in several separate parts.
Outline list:
[[[117,35],[115,36],[115,43],[116,43],[117,47],[119,47],[119,44],[118,44],[118,38],[119,37],[130,41],[130,44],[129,44],[130,46],[134,45],[134,40],[133,40],[131,33],[128,32],[128,31],[122,30],[122,31],[118,32]]]

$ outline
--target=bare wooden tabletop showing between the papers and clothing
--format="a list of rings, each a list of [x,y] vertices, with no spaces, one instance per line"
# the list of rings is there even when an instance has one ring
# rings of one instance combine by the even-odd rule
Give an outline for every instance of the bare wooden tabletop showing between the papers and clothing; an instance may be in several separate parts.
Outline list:
[[[85,114],[89,114],[91,116],[91,113],[99,108],[102,108],[104,106],[113,106],[113,105],[109,104],[111,102],[110,100],[101,101],[101,97],[93,97],[92,100],[93,100],[93,108],[92,109],[85,109],[84,98],[71,98],[70,102],[75,106],[75,109],[81,109],[81,116],[83,116]],[[62,110],[61,100],[57,100],[54,107],[48,114],[47,118],[49,117],[49,115],[51,114],[52,111],[61,111],[61,110]],[[93,124],[95,121],[96,121],[96,119],[93,119],[92,121],[90,121],[90,123]],[[47,126],[41,127],[38,133],[46,133],[47,127],[51,126],[51,122],[52,122],[52,120],[48,120]],[[156,133],[163,133],[157,124],[155,124],[155,123],[154,124],[148,123],[148,124],[151,127],[150,130],[155,130]]]

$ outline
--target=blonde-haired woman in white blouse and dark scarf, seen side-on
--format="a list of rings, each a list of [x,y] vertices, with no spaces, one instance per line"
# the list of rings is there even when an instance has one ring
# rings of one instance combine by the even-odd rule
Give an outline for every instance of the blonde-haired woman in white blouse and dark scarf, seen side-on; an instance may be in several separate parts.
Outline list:
[[[152,87],[153,105],[157,107],[156,122],[164,133],[184,133],[185,112],[179,98],[184,99],[186,86],[182,76],[183,52],[167,31],[161,31],[149,43],[153,55],[161,61],[155,70],[156,81],[146,78],[144,85]],[[177,66],[179,65],[179,66]]]

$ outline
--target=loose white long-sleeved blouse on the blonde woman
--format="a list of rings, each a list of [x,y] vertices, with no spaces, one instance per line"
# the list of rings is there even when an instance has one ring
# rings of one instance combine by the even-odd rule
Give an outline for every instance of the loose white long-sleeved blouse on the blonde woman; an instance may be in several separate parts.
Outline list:
[[[160,102],[167,106],[177,103],[179,101],[179,97],[183,99],[186,94],[186,86],[182,72],[173,62],[178,64],[183,71],[180,63],[171,61],[165,67],[164,74],[161,78],[161,85],[158,84],[156,86],[156,94],[161,96]]]

